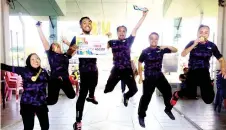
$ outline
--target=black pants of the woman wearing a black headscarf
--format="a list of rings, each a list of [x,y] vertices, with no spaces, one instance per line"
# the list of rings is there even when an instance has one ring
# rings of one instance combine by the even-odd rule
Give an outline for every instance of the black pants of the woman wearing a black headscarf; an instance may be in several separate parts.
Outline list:
[[[34,129],[35,114],[38,117],[41,130],[49,129],[49,117],[48,117],[47,105],[33,106],[33,105],[21,104],[20,107],[21,107],[20,114],[23,119],[24,130]]]

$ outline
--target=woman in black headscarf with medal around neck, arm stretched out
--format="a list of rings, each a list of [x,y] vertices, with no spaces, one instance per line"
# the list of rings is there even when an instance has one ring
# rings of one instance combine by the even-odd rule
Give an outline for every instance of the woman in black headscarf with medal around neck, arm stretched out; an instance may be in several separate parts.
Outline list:
[[[20,100],[20,114],[24,130],[34,129],[35,114],[39,119],[41,130],[49,129],[48,107],[46,102],[46,87],[48,73],[40,67],[40,58],[32,53],[26,59],[25,67],[8,66],[1,63],[1,70],[21,75],[24,91]]]

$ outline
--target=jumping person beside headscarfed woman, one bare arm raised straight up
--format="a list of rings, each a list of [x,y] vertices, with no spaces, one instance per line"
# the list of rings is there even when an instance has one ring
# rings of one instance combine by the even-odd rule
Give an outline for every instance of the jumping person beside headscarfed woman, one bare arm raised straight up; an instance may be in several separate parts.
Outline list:
[[[70,47],[67,53],[63,53],[58,43],[52,43],[49,45],[49,42],[43,34],[41,22],[38,22],[36,26],[42,44],[46,50],[51,68],[50,81],[48,85],[48,105],[54,105],[57,103],[60,89],[64,91],[68,98],[75,98],[75,91],[69,79],[68,66],[69,59],[76,48],[74,46]]]

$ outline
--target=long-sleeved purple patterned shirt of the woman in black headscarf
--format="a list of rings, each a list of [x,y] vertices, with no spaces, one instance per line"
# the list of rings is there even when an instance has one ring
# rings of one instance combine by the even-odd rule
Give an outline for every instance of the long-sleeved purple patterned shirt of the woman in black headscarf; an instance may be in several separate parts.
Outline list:
[[[39,77],[35,82],[31,80],[37,72],[31,71],[27,67],[12,67],[1,64],[1,69],[21,75],[23,79],[24,91],[21,96],[20,102],[22,104],[30,104],[34,106],[46,105],[46,88],[48,85],[49,75],[45,69],[42,69]]]

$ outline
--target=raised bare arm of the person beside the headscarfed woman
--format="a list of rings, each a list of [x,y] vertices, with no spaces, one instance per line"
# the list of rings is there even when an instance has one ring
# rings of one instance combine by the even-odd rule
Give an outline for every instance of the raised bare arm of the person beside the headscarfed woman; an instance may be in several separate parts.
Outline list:
[[[45,50],[49,50],[50,46],[49,46],[49,42],[47,41],[43,31],[42,31],[42,27],[41,27],[41,22],[38,22],[36,24],[36,27],[37,27],[37,30],[38,30],[38,34],[39,34],[39,37],[42,41],[42,44],[43,44],[43,47],[45,48]]]

